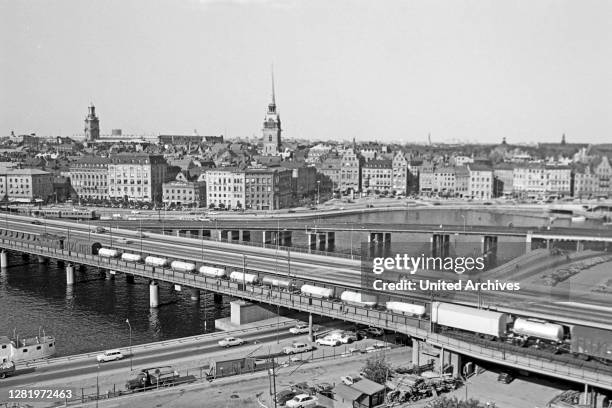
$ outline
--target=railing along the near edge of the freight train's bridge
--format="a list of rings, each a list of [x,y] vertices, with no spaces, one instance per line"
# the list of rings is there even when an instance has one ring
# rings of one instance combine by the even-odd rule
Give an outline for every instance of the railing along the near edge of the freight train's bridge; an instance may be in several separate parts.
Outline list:
[[[69,262],[113,269],[152,280],[163,280],[175,284],[191,286],[227,294],[237,298],[246,298],[261,303],[275,304],[367,326],[384,327],[387,330],[408,334],[411,337],[424,339],[439,346],[453,349],[461,354],[489,359],[497,363],[516,363],[518,364],[517,366],[536,370],[542,374],[570,378],[574,381],[589,382],[592,385],[602,388],[612,388],[612,375],[578,369],[568,364],[552,362],[552,354],[549,356],[550,361],[546,362],[542,361],[542,359],[520,355],[515,353],[515,351],[507,351],[504,347],[500,347],[500,344],[489,343],[487,345],[477,345],[473,342],[461,341],[448,336],[432,333],[429,331],[429,321],[412,316],[358,306],[348,306],[339,301],[316,299],[301,294],[277,291],[268,287],[243,285],[202,275],[187,274],[165,269],[162,269],[160,272],[156,271],[156,268],[144,264],[133,264],[118,259],[101,258],[96,255],[71,254],[70,251],[42,248],[29,242],[20,243],[2,239],[0,246],[36,255],[52,256]],[[506,358],[506,355],[503,353],[509,353],[509,357],[514,358],[514,360]]]

